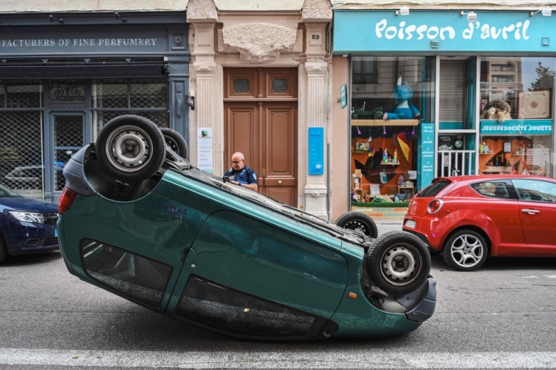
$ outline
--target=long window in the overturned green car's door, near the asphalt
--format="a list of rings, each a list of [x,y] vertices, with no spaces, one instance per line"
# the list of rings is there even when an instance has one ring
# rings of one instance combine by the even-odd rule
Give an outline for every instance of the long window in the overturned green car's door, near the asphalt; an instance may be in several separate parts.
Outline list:
[[[176,314],[246,337],[304,337],[316,317],[190,275]]]

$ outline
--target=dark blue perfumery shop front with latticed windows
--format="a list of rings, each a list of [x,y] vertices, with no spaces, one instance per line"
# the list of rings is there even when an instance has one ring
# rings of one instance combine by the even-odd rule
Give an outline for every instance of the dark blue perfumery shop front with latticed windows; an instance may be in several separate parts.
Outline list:
[[[52,18],[0,23],[0,184],[56,202],[65,163],[118,115],[187,138],[189,54],[185,13]]]

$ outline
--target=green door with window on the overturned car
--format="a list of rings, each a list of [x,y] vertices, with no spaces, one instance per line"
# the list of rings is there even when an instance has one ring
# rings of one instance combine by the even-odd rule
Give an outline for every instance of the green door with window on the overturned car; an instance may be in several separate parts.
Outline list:
[[[314,337],[347,284],[339,247],[217,211],[195,238],[167,314],[242,337]]]

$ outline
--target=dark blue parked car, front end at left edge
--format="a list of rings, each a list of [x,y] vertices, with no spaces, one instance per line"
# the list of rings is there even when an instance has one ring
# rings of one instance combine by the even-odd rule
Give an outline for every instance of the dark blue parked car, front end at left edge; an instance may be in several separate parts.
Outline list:
[[[25,198],[0,185],[0,262],[8,255],[56,250],[56,204]]]

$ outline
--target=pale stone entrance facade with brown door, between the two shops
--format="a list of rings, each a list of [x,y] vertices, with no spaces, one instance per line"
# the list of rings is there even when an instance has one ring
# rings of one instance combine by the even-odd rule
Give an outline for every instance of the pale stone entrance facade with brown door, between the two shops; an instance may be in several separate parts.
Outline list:
[[[259,192],[329,217],[329,0],[190,0],[190,152],[223,175],[243,152]]]

